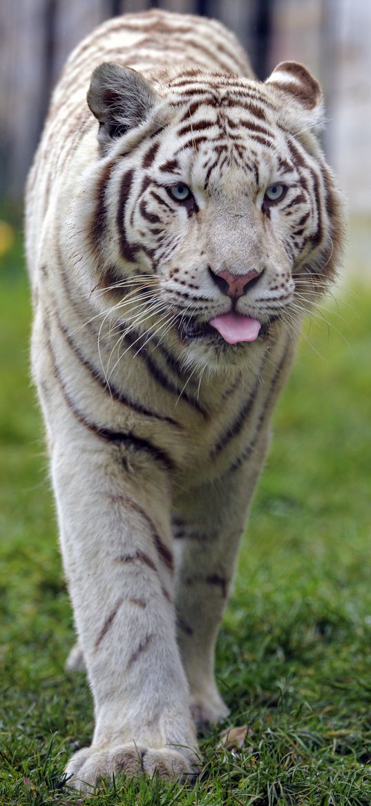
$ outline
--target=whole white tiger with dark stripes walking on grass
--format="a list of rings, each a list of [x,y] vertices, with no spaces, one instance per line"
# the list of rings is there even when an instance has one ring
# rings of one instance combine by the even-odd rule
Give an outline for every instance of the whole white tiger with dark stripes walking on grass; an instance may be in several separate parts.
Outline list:
[[[303,316],[343,209],[301,64],[257,81],[215,20],[152,10],[72,53],[27,182],[32,367],[93,694],[68,784],[192,779],[217,631]],[[197,723],[197,724],[196,724]],[[78,741],[78,737],[76,737]]]

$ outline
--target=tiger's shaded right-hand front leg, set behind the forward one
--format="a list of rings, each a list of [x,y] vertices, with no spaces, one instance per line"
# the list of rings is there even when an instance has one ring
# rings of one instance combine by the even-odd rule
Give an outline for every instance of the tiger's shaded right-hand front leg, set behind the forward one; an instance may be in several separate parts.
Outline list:
[[[250,463],[192,488],[175,520],[178,642],[192,714],[203,731],[229,713],[216,685],[215,645],[266,442],[263,433]]]

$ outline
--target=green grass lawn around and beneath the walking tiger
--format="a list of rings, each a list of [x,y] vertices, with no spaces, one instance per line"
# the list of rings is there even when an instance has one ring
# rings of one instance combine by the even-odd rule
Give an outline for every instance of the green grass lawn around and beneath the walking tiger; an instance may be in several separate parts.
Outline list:
[[[0,803],[76,804],[63,769],[89,743],[92,704],[84,675],[64,672],[72,614],[21,262],[15,247],[0,268]],[[117,781],[91,806],[369,806],[371,293],[346,302],[339,312],[327,303],[329,332],[311,326],[301,344],[218,642],[226,725],[249,725],[245,746],[221,752],[218,728],[201,742],[195,787]]]

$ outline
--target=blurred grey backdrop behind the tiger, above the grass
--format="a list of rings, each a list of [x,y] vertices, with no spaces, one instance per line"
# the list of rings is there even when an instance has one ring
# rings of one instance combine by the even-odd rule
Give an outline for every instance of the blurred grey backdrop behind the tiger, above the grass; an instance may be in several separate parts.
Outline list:
[[[371,280],[371,2],[369,0],[2,0],[0,198],[12,218],[60,69],[95,25],[150,7],[209,15],[237,32],[259,78],[303,61],[326,98],[324,147],[348,198],[348,264]],[[3,238],[4,239],[4,238]],[[8,232],[9,239],[9,232]]]

